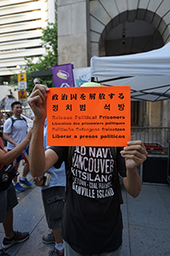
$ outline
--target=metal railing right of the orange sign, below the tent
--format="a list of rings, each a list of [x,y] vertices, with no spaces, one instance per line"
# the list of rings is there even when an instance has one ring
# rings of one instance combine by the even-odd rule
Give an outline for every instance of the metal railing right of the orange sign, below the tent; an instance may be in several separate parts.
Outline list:
[[[170,142],[170,127],[131,127],[131,140],[160,144],[167,151]]]

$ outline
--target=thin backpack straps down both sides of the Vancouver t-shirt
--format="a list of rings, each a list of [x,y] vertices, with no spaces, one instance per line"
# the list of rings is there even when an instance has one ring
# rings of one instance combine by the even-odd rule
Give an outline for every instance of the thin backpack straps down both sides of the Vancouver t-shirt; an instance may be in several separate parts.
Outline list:
[[[69,147],[69,150],[68,150],[68,156],[67,156],[67,161],[65,163],[65,172],[66,172],[66,191],[65,191],[65,197],[66,197],[66,194],[67,194],[67,191],[68,191],[68,186],[69,186],[69,179],[71,178],[71,159],[72,159],[72,156],[75,152],[75,149],[76,147]],[[121,191],[121,184],[120,184],[120,181],[119,181],[119,174],[117,172],[117,169],[116,169],[116,147],[110,147],[111,149],[111,154],[113,155],[113,159],[114,159],[114,171],[113,172],[113,180],[116,180],[116,183],[115,183],[115,188],[117,189],[118,191],[118,201],[119,201],[119,204],[122,204],[123,203],[123,200],[122,200],[122,191]]]

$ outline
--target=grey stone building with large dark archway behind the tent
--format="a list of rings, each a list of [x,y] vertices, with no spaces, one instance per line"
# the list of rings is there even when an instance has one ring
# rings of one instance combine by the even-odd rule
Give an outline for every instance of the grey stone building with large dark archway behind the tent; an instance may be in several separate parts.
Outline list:
[[[170,41],[169,0],[59,0],[59,64],[159,49]],[[169,102],[132,102],[133,125],[170,126]]]

